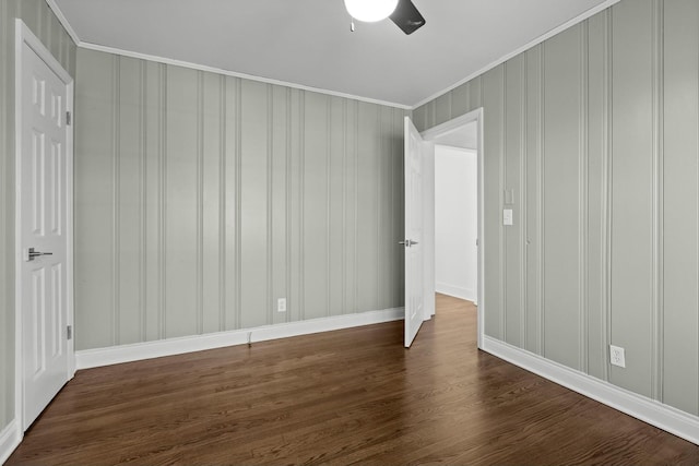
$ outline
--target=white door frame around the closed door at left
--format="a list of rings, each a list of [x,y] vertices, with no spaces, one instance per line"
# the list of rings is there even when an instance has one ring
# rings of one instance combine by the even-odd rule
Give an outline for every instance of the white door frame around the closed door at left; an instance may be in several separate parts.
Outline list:
[[[14,212],[14,270],[15,270],[15,288],[14,288],[14,420],[17,426],[20,439],[24,437],[23,404],[23,368],[24,351],[22,347],[22,89],[25,83],[22,82],[22,60],[24,55],[24,46],[32,49],[49,69],[66,84],[66,109],[73,113],[73,87],[74,81],[63,67],[56,60],[51,52],[42,44],[42,41],[32,33],[32,31],[20,19],[15,20],[15,48],[14,48],[14,141],[15,141],[15,212]],[[67,324],[73,326],[73,126],[66,126],[66,287],[67,287]],[[75,351],[74,338],[68,340],[68,377],[70,380],[75,373]]]

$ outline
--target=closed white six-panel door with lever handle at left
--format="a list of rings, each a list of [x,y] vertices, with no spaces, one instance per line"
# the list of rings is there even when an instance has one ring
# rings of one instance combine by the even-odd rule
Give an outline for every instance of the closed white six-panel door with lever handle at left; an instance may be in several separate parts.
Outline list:
[[[26,430],[69,379],[68,89],[26,43],[22,47],[19,289]]]

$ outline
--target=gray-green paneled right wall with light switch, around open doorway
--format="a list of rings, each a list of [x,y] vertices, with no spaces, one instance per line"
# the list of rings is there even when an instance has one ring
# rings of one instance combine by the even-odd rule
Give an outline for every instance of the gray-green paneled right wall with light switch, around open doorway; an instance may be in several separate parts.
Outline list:
[[[486,333],[699,414],[699,3],[623,0],[414,119],[481,106]]]

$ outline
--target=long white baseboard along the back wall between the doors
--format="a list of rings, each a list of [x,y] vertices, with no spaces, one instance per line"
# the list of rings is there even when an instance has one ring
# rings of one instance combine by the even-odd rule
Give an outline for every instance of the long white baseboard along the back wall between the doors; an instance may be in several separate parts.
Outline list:
[[[108,348],[85,349],[75,351],[75,367],[78,370],[90,369],[142,359],[159,358],[163,356],[182,355],[186,353],[222,348],[225,346],[246,345],[249,342],[265,342],[269,339],[287,338],[291,336],[308,335],[311,333],[351,328],[355,326],[396,321],[404,316],[404,308],[394,308],[381,311],[336,315],[332,318],[310,319],[307,321],[289,322],[277,325],[265,325],[254,328],[235,330],[230,332],[167,338],[156,342],[120,345]]]

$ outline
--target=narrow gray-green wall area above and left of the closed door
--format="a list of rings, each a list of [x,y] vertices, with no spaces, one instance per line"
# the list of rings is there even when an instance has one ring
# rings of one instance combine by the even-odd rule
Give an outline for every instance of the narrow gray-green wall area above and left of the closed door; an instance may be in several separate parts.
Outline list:
[[[0,431],[14,417],[14,20],[21,17],[68,72],[75,44],[44,0],[0,0]]]

